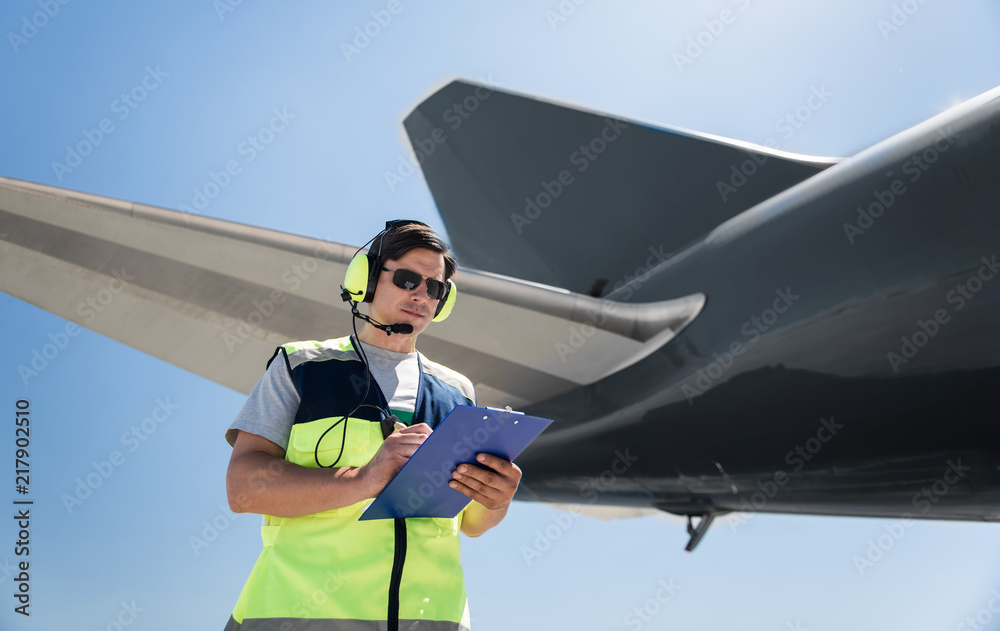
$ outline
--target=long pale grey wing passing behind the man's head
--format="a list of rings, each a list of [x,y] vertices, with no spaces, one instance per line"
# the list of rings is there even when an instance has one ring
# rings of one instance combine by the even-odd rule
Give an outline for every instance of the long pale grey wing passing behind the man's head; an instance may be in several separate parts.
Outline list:
[[[7,178],[0,245],[0,290],[239,392],[275,346],[349,326],[339,285],[354,246]],[[469,269],[455,281],[460,308],[420,349],[489,405],[617,372],[705,303],[611,302]]]

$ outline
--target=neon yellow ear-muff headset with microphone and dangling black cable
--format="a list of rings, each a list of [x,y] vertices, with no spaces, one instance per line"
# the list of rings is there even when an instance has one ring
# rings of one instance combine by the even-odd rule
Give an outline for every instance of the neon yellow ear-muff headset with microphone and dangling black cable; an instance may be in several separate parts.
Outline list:
[[[374,242],[375,239],[378,239],[378,252],[372,254],[371,250],[369,250],[367,253],[361,254],[361,250],[365,247],[365,245],[363,245],[358,248],[357,252],[354,253],[354,258],[351,259],[351,263],[347,266],[347,273],[344,275],[344,284],[340,286],[340,297],[345,302],[351,303],[351,323],[354,328],[354,338],[358,340],[358,355],[361,358],[361,361],[365,364],[367,383],[365,385],[365,393],[361,396],[361,402],[354,406],[353,410],[342,416],[340,420],[328,427],[316,441],[316,448],[313,450],[313,457],[316,460],[317,467],[328,469],[337,466],[337,463],[340,462],[341,457],[344,455],[344,443],[347,441],[346,421],[359,409],[363,407],[373,407],[381,413],[382,419],[380,424],[382,426],[383,440],[389,437],[389,434],[391,434],[395,429],[395,423],[399,421],[399,418],[395,414],[383,410],[377,405],[365,403],[365,401],[368,400],[368,392],[371,390],[372,371],[371,366],[368,364],[368,357],[365,355],[365,349],[361,345],[361,339],[358,337],[358,320],[364,320],[375,328],[385,331],[386,335],[392,335],[393,333],[406,335],[413,332],[413,326],[410,324],[382,324],[380,322],[376,322],[369,316],[358,311],[358,303],[371,302],[375,298],[375,288],[378,285],[378,277],[382,272],[382,263],[384,263],[382,260],[382,240],[385,238],[385,235],[409,224],[427,226],[427,224],[421,221],[407,219],[387,221],[385,222],[385,228],[382,232],[379,232],[377,235],[372,237],[368,243],[365,243],[365,245],[368,245],[369,243]],[[438,300],[437,310],[434,312],[434,318],[432,320],[433,322],[440,322],[451,314],[451,310],[455,307],[455,299],[457,295],[458,291],[455,289],[455,283],[448,280],[445,283],[445,294]],[[328,465],[321,464],[319,461],[320,443],[322,443],[326,435],[330,433],[330,430],[341,423],[344,424],[344,429],[340,437],[340,452],[337,454],[337,459]]]

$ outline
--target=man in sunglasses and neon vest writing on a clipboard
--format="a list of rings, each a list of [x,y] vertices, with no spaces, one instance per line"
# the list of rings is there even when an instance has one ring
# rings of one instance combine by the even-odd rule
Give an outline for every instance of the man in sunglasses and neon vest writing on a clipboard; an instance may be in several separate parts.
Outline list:
[[[454,300],[455,259],[441,238],[419,222],[389,222],[356,260],[370,269],[367,291],[349,286],[350,274],[345,291],[371,302],[358,316],[372,324],[357,337],[279,347],[226,432],[230,507],[264,516],[264,549],[226,631],[469,627],[458,533],[498,524],[521,471],[479,454],[482,466],[460,465],[449,481],[472,500],[458,517],[358,521],[475,394],[416,352]],[[389,414],[406,427],[386,435]]]

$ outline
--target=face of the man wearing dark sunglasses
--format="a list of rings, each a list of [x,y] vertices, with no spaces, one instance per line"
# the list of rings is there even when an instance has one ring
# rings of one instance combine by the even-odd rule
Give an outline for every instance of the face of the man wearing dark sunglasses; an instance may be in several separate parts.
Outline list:
[[[444,280],[444,256],[423,248],[414,248],[395,261],[385,261],[382,267],[408,269],[425,278]],[[438,301],[427,295],[426,281],[407,291],[393,284],[392,272],[380,271],[369,315],[385,324],[412,324],[412,335],[416,336],[434,319],[437,306]]]

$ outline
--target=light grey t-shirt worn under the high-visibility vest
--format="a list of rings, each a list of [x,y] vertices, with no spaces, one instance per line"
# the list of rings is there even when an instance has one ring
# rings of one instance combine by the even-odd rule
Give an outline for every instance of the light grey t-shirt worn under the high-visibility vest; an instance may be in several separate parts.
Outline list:
[[[372,387],[382,389],[389,399],[389,408],[410,424],[417,403],[420,368],[416,353],[397,353],[362,342],[372,371]],[[376,384],[378,384],[376,386]],[[236,443],[238,431],[262,436],[282,449],[288,449],[295,413],[299,408],[299,393],[281,357],[275,357],[264,376],[254,386],[243,408],[226,430],[226,440]]]

